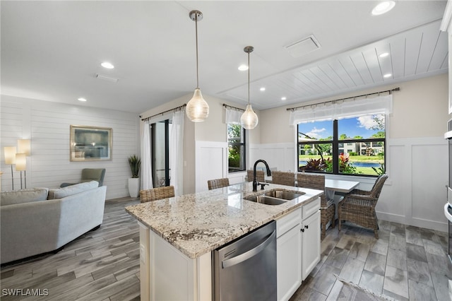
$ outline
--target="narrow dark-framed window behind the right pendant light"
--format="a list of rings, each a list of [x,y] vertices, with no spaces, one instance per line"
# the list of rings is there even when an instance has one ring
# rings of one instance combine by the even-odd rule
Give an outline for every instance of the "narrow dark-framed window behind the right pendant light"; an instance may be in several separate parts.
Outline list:
[[[245,129],[240,124],[227,124],[228,170],[239,172],[245,170]]]

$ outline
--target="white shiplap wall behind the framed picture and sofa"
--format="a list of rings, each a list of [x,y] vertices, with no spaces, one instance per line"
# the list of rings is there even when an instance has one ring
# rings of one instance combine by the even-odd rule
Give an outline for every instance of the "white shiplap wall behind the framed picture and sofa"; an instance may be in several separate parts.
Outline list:
[[[59,187],[78,182],[83,168],[105,168],[107,199],[128,196],[131,172],[127,158],[139,155],[138,115],[82,105],[66,105],[1,95],[1,190],[11,190],[11,165],[5,165],[4,146],[17,146],[30,138],[32,154],[27,158],[27,187]],[[71,162],[71,124],[112,128],[112,160]],[[14,189],[20,188],[20,172],[13,167]]]

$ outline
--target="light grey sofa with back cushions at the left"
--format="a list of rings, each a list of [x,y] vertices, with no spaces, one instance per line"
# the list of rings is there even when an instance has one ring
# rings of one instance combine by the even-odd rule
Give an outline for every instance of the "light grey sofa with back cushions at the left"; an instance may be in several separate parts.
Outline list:
[[[100,226],[106,189],[91,181],[1,192],[0,263],[55,251]]]

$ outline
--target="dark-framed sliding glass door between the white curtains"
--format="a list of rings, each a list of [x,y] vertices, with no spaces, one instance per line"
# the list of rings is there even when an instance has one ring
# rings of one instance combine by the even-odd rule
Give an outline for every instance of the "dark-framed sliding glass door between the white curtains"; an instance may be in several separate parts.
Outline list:
[[[171,119],[151,125],[154,187],[169,186],[169,133],[171,126]]]

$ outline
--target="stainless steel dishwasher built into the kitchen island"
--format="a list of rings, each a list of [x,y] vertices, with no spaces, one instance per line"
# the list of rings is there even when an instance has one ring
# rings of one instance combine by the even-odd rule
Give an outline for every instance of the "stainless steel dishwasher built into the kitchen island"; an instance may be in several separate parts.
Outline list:
[[[214,300],[276,300],[276,222],[213,252]]]

